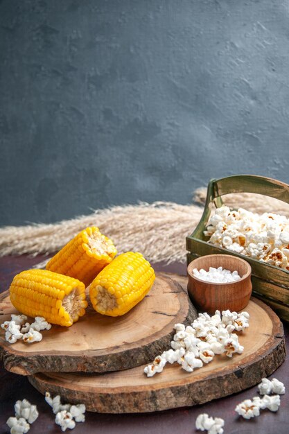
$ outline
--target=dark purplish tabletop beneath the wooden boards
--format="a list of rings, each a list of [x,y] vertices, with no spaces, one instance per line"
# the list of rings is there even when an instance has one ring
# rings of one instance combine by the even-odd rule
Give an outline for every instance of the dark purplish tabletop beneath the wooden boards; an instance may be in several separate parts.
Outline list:
[[[12,278],[17,272],[27,270],[44,257],[4,257],[0,258],[0,292],[9,288]],[[186,268],[181,264],[165,266],[162,263],[152,264],[157,271],[177,272],[184,275]],[[289,346],[288,323],[283,323],[286,336],[286,349]],[[289,360],[279,367],[270,378],[276,377],[286,386],[286,394],[281,396],[281,406],[277,413],[261,410],[255,419],[245,420],[238,417],[234,408],[240,401],[258,396],[256,386],[229,397],[211,401],[201,406],[166,410],[159,413],[141,413],[129,415],[103,415],[86,413],[86,421],[76,424],[73,434],[192,434],[195,430],[195,419],[200,413],[225,419],[225,434],[288,434],[289,433]],[[33,388],[25,376],[11,374],[0,365],[0,433],[10,433],[6,420],[14,416],[14,404],[17,399],[28,399],[36,404],[40,416],[31,425],[29,434],[62,433],[60,426],[55,425],[51,408],[44,401],[40,392]]]

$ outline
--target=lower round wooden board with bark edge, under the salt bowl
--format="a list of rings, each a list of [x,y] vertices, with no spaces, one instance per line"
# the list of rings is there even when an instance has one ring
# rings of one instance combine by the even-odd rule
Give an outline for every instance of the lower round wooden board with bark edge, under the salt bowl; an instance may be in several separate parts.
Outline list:
[[[186,286],[185,277],[176,279]],[[152,412],[225,397],[256,385],[286,358],[283,325],[277,315],[254,298],[246,311],[249,328],[238,333],[243,354],[216,356],[192,373],[179,365],[167,365],[161,374],[150,378],[140,366],[102,375],[38,373],[28,379],[43,394],[60,394],[63,401],[85,403],[87,410],[98,413]]]

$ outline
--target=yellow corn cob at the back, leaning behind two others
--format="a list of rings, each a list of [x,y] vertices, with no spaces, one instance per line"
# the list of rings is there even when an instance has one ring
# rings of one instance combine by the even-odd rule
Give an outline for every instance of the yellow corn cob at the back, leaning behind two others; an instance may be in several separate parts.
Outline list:
[[[98,227],[87,227],[51,258],[46,270],[75,277],[88,286],[114,259],[116,248]]]

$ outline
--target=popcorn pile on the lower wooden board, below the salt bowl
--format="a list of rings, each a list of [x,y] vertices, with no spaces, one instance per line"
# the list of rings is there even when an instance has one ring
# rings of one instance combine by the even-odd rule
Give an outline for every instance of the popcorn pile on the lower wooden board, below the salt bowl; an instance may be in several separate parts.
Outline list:
[[[249,313],[216,311],[210,316],[199,313],[189,326],[175,324],[175,335],[170,342],[170,349],[155,358],[152,364],[144,368],[147,376],[162,372],[166,363],[179,363],[187,372],[202,367],[203,363],[213,361],[215,354],[232,357],[241,354],[244,347],[240,345],[238,336],[233,331],[243,331],[249,327]]]

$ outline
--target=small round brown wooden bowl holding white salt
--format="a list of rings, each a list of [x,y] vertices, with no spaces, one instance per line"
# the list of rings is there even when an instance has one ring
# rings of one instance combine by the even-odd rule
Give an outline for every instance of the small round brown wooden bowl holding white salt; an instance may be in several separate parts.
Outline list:
[[[223,269],[238,271],[240,280],[226,284],[215,284],[203,281],[193,275],[193,269],[222,267]],[[251,266],[244,259],[229,254],[208,254],[194,259],[187,268],[188,292],[196,309],[202,312],[214,313],[219,311],[241,311],[249,303],[252,294]]]

